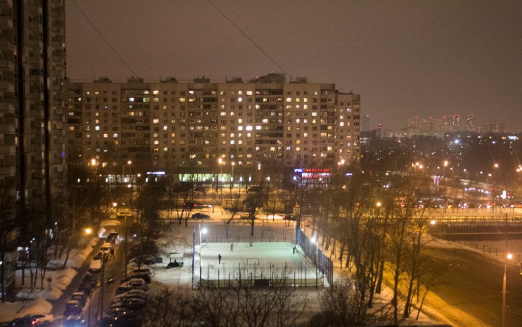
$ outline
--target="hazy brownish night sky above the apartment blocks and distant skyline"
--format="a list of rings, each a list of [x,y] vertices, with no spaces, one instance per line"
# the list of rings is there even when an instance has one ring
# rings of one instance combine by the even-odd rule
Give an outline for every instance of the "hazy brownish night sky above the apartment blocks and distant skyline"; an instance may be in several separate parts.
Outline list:
[[[75,0],[136,75],[248,80],[269,58],[207,1]],[[474,114],[522,131],[522,1],[212,0],[292,77],[360,93],[372,126]],[[67,75],[134,75],[66,0]]]

